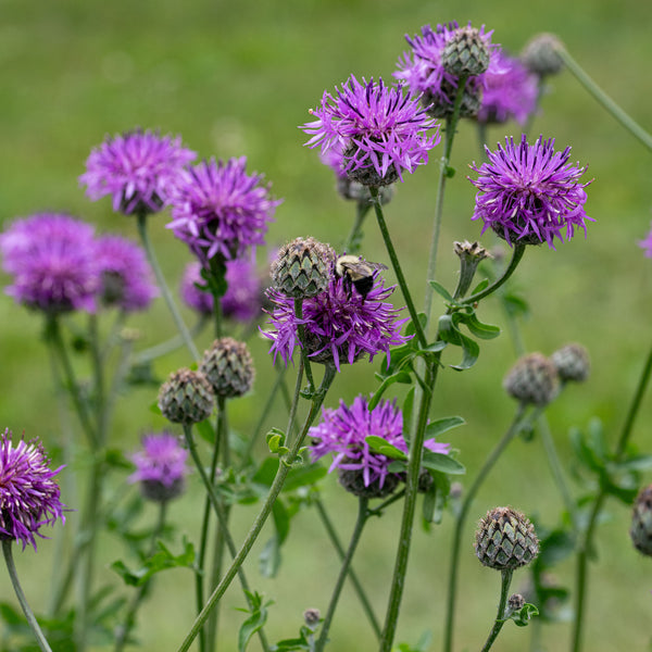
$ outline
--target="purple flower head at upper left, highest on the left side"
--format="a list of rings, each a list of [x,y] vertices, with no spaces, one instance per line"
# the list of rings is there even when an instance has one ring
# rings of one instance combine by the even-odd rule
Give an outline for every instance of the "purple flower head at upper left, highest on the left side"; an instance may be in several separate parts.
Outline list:
[[[196,158],[179,136],[134,129],[93,149],[79,183],[93,201],[111,195],[115,212],[156,213],[167,204],[178,173]]]

